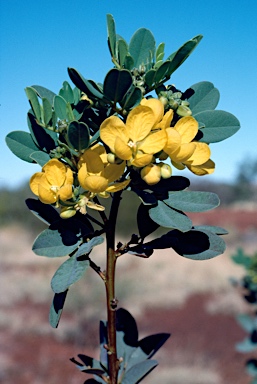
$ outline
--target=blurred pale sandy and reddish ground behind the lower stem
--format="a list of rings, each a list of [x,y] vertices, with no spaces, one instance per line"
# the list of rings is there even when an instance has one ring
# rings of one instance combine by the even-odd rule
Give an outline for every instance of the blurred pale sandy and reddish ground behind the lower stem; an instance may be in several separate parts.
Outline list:
[[[248,215],[247,222],[238,215],[230,212],[228,247],[215,259],[191,261],[172,250],[155,252],[149,259],[119,259],[119,305],[138,320],[140,337],[172,333],[156,355],[160,366],[144,383],[249,383],[246,356],[234,349],[244,337],[235,316],[247,306],[229,279],[244,273],[231,261],[236,249],[257,250],[257,216]],[[220,211],[218,217],[224,222],[229,215]],[[53,330],[48,324],[50,281],[64,259],[34,255],[32,241],[20,227],[1,229],[0,383],[82,383],[87,376],[69,358],[78,353],[97,357],[98,323],[105,318],[103,284],[87,271],[70,290],[60,326]],[[103,246],[95,249],[94,261],[104,265]]]

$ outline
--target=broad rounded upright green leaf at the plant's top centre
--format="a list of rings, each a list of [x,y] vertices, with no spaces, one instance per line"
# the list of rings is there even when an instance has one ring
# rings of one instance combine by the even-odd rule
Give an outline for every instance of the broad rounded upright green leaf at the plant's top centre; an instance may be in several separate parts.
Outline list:
[[[132,36],[129,43],[129,53],[134,59],[134,66],[147,66],[149,63],[149,54],[155,57],[155,39],[151,31],[146,28],[138,29]]]

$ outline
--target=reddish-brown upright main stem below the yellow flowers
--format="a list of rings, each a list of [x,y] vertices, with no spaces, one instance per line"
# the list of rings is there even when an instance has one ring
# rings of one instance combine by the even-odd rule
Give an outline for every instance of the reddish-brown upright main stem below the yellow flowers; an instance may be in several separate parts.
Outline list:
[[[116,307],[115,297],[115,267],[117,255],[115,247],[116,221],[121,200],[122,191],[114,193],[109,221],[106,230],[107,265],[106,265],[106,306],[107,306],[107,337],[108,337],[108,365],[109,383],[117,384],[119,360],[116,347]]]

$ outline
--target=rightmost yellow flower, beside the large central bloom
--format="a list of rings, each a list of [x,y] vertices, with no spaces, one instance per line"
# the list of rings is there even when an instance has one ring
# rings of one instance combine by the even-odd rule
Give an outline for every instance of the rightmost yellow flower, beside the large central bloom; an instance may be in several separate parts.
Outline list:
[[[210,160],[209,145],[193,141],[198,132],[198,122],[192,116],[182,117],[174,128],[166,128],[167,143],[164,151],[178,169],[185,166],[197,175],[212,173],[215,164]]]

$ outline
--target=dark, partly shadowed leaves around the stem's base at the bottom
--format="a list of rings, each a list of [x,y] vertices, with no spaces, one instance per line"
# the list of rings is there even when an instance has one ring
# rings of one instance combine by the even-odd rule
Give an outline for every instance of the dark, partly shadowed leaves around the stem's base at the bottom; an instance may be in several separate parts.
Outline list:
[[[137,324],[133,316],[123,308],[117,310],[116,338],[117,356],[120,359],[119,380],[125,384],[137,384],[156,366],[157,361],[152,356],[162,347],[170,337],[168,333],[158,333],[138,340]],[[86,383],[104,383],[102,377],[108,375],[107,323],[100,322],[100,361],[89,356],[79,354],[80,361],[72,358],[81,372],[94,374],[94,381]]]

